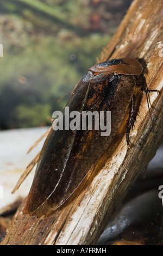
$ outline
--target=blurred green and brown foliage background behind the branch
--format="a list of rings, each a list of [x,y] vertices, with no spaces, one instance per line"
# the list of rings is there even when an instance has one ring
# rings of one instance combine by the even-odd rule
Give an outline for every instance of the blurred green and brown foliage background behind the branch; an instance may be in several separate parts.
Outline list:
[[[1,0],[0,129],[50,125],[132,0]]]

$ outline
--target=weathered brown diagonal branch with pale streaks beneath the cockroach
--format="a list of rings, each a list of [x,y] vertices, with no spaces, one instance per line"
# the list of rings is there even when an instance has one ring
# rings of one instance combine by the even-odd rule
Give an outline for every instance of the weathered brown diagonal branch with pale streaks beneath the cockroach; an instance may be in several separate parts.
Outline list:
[[[153,158],[162,139],[163,93],[163,9],[162,0],[134,0],[117,33],[104,48],[99,61],[135,57],[145,71],[153,118],[146,95],[139,94],[141,106],[127,149],[125,127],[112,147],[105,151],[87,180],[54,214],[37,218],[24,215],[24,202],[17,210],[2,245],[92,245],[121,204],[137,175]],[[146,180],[145,180],[146,182]]]

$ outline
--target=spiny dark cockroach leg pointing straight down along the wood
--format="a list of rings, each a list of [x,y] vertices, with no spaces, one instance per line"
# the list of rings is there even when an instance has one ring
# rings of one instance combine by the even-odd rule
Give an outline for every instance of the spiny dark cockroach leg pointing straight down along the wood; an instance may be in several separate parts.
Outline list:
[[[127,141],[127,147],[130,147],[130,141],[129,141],[129,134],[130,130],[133,129],[134,123],[136,121],[136,110],[135,110],[135,95],[133,95],[131,99],[130,104],[130,112],[129,112],[129,118],[128,118],[128,124],[127,124],[127,130],[126,130],[126,141]]]

